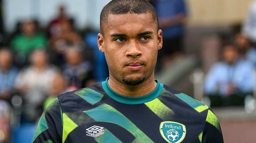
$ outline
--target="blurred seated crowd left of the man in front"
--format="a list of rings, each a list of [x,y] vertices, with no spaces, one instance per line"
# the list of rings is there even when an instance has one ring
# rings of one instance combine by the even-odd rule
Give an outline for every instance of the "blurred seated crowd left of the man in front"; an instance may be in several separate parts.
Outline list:
[[[18,22],[0,48],[0,143],[10,141],[11,118],[35,123],[58,95],[108,77],[97,31],[78,33],[65,7],[58,12],[45,28]]]

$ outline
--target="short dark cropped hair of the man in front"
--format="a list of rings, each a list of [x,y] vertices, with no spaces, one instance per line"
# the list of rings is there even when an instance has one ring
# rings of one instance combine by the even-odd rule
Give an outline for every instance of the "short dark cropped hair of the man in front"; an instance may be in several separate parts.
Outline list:
[[[158,29],[158,18],[156,9],[146,0],[112,0],[104,6],[100,13],[100,31],[103,33],[103,26],[108,22],[109,14],[126,13],[151,13]]]

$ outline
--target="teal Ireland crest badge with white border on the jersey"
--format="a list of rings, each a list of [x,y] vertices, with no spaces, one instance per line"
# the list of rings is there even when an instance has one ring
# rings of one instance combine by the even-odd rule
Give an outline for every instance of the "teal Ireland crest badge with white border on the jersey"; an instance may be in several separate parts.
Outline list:
[[[166,121],[160,123],[160,134],[168,143],[180,143],[186,136],[184,124]]]

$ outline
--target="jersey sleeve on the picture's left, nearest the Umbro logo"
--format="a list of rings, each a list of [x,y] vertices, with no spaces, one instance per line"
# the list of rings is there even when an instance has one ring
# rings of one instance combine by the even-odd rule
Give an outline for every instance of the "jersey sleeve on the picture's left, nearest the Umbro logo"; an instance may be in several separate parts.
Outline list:
[[[32,143],[62,143],[63,117],[59,99],[56,98],[44,110]]]

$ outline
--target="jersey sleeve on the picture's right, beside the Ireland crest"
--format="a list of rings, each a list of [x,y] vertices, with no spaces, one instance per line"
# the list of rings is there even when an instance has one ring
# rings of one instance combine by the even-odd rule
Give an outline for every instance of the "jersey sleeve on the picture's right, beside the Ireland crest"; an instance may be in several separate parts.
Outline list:
[[[201,133],[201,143],[223,143],[221,126],[217,116],[208,109],[204,131]]]

